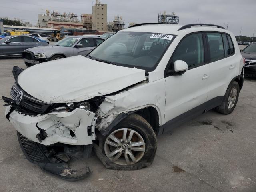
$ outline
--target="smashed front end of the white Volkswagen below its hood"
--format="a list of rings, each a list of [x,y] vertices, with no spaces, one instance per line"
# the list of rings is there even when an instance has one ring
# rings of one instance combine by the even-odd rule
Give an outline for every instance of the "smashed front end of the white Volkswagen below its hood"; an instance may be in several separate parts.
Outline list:
[[[120,170],[102,155],[97,137],[106,136],[131,111],[145,106],[132,108],[122,104],[125,98],[134,98],[122,90],[118,96],[96,96],[83,102],[42,102],[19,86],[18,75],[21,72],[22,69],[16,66],[13,68],[16,82],[10,91],[12,98],[3,96],[2,99],[6,102],[6,118],[17,130],[22,151],[30,162],[60,178],[80,180],[92,171],[88,167],[73,170],[68,162],[90,157],[94,146],[96,155],[106,168]],[[90,108],[82,105],[85,102]],[[133,103],[132,100],[129,102]]]

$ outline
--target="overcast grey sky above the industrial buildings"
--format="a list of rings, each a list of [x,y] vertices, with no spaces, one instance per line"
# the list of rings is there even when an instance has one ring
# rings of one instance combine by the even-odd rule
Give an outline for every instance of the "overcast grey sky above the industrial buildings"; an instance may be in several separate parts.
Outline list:
[[[93,0],[1,0],[0,17],[20,18],[36,24],[41,9],[58,12],[92,13]],[[122,16],[129,22],[157,22],[158,13],[172,12],[180,17],[180,24],[211,23],[223,26],[235,35],[252,36],[256,29],[256,0],[102,0],[108,4],[108,22]],[[80,17],[79,17],[80,20]],[[254,33],[256,36],[256,32]]]

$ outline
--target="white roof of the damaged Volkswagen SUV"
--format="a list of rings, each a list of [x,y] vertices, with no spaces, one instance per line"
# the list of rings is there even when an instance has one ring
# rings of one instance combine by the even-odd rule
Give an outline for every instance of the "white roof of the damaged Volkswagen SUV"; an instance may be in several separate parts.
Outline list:
[[[215,26],[191,26],[191,28],[184,28],[179,30],[184,25],[180,24],[142,24],[140,26],[134,26],[120,30],[120,32],[150,32],[150,33],[160,33],[160,34],[172,34],[178,35],[182,33],[190,33],[195,31],[217,31],[217,32],[228,32],[225,29],[217,28]]]

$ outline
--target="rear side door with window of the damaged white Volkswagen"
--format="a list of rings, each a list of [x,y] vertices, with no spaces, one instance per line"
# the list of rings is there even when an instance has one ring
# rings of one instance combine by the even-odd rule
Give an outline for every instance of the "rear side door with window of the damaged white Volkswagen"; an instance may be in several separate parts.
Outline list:
[[[210,62],[207,100],[212,100],[224,96],[228,84],[236,76],[237,59],[234,57],[234,45],[228,34],[208,32],[206,39]]]

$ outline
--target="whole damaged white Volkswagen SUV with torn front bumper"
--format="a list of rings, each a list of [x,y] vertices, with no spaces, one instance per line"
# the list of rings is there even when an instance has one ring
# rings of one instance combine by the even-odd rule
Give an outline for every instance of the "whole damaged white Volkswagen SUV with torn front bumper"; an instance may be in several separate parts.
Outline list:
[[[211,109],[230,114],[244,81],[234,35],[211,24],[136,24],[86,57],[13,68],[6,118],[26,158],[79,180],[71,159],[94,149],[106,168],[152,164],[156,135]]]

